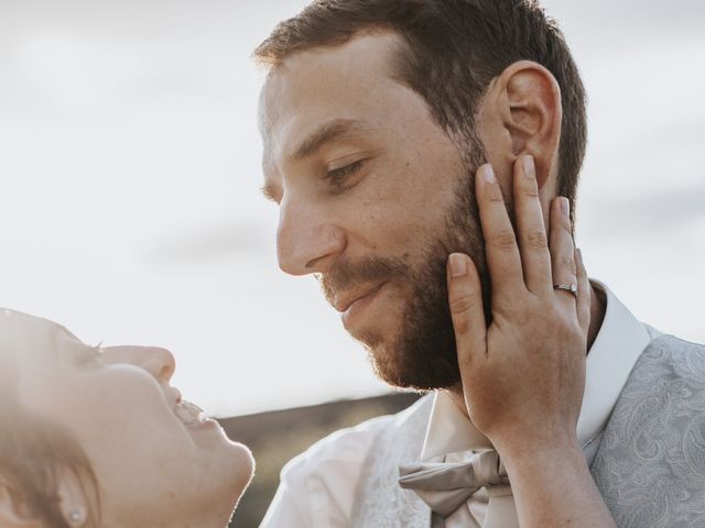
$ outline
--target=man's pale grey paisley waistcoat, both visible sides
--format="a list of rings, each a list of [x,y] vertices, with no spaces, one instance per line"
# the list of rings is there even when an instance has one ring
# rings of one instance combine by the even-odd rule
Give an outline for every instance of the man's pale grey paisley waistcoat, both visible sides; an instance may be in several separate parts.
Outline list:
[[[397,480],[419,460],[431,407],[425,396],[378,436],[354,528],[429,528],[429,507]],[[705,527],[705,346],[663,336],[644,350],[590,471],[619,528]]]

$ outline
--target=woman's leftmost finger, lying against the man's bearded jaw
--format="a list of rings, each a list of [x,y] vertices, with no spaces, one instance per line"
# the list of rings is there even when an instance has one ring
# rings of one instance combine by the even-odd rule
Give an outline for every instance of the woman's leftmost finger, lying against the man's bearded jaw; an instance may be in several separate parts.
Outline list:
[[[448,257],[447,283],[458,365],[465,384],[473,359],[478,354],[484,356],[487,352],[482,287],[477,268],[469,256],[453,253]]]

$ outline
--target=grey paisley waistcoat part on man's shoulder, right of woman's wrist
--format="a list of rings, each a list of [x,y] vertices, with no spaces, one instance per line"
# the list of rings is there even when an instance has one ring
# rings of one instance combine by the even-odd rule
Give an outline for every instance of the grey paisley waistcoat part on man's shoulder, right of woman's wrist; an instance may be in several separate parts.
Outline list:
[[[705,527],[705,346],[664,336],[644,350],[592,473],[619,528]]]

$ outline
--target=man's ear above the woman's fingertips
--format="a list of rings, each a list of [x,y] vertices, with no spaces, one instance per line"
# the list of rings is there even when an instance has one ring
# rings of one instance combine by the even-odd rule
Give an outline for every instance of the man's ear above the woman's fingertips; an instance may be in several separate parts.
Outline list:
[[[513,63],[495,78],[484,107],[485,124],[496,136],[489,140],[495,144],[500,140],[509,151],[508,162],[533,156],[543,187],[558,160],[563,119],[561,88],[553,74],[531,61]]]

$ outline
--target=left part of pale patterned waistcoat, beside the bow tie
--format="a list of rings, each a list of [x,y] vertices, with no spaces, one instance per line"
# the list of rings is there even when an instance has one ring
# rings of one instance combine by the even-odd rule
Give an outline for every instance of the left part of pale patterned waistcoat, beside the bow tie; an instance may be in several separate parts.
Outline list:
[[[397,416],[399,427],[377,437],[360,477],[352,528],[429,528],[431,509],[419,496],[399,486],[399,466],[419,461],[433,396],[426,395]]]

